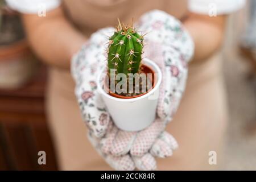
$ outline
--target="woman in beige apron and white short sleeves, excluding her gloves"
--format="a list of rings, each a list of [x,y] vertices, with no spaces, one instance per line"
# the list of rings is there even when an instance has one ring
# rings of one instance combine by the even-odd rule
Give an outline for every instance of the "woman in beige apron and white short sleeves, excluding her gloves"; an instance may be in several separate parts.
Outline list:
[[[209,165],[208,154],[220,149],[228,119],[218,49],[224,36],[225,15],[242,7],[244,1],[214,1],[215,4],[205,0],[191,0],[188,4],[187,1],[166,0],[7,2],[23,13],[31,47],[51,67],[47,110],[60,169],[110,169],[85,138],[73,93],[75,84],[69,73],[71,57],[94,31],[115,26],[117,17],[127,23],[152,9],[181,19],[195,42],[187,90],[174,121],[167,127],[179,141],[180,148],[171,158],[159,159],[158,168],[215,167]],[[36,15],[40,2],[46,6],[46,17]],[[218,16],[208,16],[209,7],[213,8],[213,13],[216,10]]]

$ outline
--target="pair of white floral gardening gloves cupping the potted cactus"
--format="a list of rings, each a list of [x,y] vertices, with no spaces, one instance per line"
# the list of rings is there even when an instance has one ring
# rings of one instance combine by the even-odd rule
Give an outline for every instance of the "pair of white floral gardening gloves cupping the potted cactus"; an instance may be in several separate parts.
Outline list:
[[[151,11],[142,16],[140,26],[147,32],[150,30],[147,38],[151,46],[148,48],[153,49],[145,50],[145,53],[151,60],[157,60],[165,78],[160,89],[162,92],[157,111],[159,118],[147,129],[138,133],[118,130],[110,122],[109,114],[96,92],[95,75],[105,64],[102,61],[102,47],[106,40],[103,34],[110,33],[111,28],[93,34],[72,61],[72,73],[77,82],[76,95],[90,129],[90,140],[115,169],[134,169],[134,162],[138,169],[155,169],[152,155],[168,156],[177,147],[176,140],[162,131],[179,105],[187,78],[187,61],[193,53],[193,43],[181,29],[180,23],[162,11]],[[103,138],[94,137],[102,137],[106,130]],[[148,153],[149,150],[152,155]]]

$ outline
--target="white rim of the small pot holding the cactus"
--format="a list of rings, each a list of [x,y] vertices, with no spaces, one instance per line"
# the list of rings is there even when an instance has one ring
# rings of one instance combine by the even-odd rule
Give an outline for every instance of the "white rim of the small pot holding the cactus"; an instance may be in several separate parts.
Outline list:
[[[147,93],[144,93],[141,96],[134,97],[134,98],[117,98],[117,97],[113,97],[110,94],[106,93],[105,90],[102,88],[102,86],[98,86],[97,87],[98,88],[98,92],[103,94],[105,97],[108,97],[108,98],[110,98],[112,100],[120,101],[120,102],[133,102],[133,101],[142,100],[143,98],[146,98],[146,97],[150,96],[152,93],[154,93],[159,88],[159,86],[160,86],[160,84],[162,82],[162,72],[161,72],[160,68],[158,67],[158,65],[155,64],[153,61],[151,61],[148,58],[144,58],[142,60],[142,63],[147,65],[147,67],[150,67],[150,69],[152,69],[152,71],[154,71],[155,73],[158,74],[156,76],[156,82],[155,82],[154,88],[149,90]],[[102,78],[101,76],[104,73],[105,73],[105,69],[103,69],[101,71],[101,73],[98,75],[97,85],[101,85],[101,78]]]

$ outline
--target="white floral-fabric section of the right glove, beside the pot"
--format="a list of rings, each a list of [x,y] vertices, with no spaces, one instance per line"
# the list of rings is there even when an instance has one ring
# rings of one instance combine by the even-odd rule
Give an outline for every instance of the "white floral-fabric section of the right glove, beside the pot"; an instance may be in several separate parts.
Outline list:
[[[179,20],[160,10],[144,14],[138,26],[140,30],[148,32],[148,44],[154,45],[145,52],[146,56],[163,56],[164,68],[160,66],[163,82],[157,114],[162,120],[170,122],[185,90],[187,65],[194,52],[193,40]]]

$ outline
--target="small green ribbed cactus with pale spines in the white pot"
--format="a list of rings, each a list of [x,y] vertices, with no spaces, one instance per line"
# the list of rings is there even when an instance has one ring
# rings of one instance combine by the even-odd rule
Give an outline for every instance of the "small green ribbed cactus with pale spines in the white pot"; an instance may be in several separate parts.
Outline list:
[[[114,35],[109,39],[108,68],[115,74],[139,73],[142,60],[143,36],[133,25],[124,26],[119,22]]]

